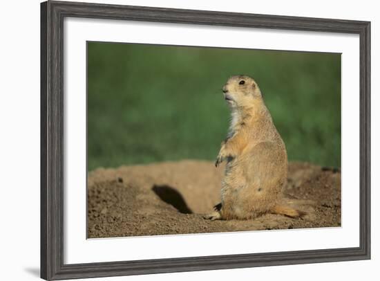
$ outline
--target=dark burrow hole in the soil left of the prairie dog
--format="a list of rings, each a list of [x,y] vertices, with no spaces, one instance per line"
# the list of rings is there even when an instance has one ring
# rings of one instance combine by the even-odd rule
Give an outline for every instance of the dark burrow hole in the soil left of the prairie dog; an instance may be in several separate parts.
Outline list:
[[[193,213],[187,206],[186,201],[184,201],[182,194],[178,190],[175,190],[175,188],[169,185],[153,185],[152,190],[162,201],[176,208],[178,212],[182,212],[182,214]]]

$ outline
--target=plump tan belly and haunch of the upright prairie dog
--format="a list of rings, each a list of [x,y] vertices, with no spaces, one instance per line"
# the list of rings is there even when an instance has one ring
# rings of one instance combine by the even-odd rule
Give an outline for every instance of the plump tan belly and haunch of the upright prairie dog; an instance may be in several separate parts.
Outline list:
[[[287,179],[287,156],[270,142],[258,143],[226,165],[222,216],[257,217],[276,205]]]

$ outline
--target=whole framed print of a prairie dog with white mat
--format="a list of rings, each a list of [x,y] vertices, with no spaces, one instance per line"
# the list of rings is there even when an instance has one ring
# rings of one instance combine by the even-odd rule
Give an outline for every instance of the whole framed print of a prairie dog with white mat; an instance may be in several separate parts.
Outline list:
[[[41,278],[370,259],[370,22],[41,3]]]

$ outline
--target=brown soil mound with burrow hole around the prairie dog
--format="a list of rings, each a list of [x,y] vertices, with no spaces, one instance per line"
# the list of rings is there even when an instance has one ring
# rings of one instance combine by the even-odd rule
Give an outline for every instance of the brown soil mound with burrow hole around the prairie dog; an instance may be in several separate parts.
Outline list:
[[[309,163],[289,163],[284,188],[304,217],[203,219],[220,203],[223,171],[191,160],[94,170],[88,174],[88,238],[341,226],[340,170]]]

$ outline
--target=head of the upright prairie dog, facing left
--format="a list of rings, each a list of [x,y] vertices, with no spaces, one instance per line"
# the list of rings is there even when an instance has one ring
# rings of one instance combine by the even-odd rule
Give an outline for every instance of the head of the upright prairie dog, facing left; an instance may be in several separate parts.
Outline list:
[[[222,91],[225,100],[233,108],[249,106],[255,100],[262,99],[258,84],[247,75],[231,76]]]

